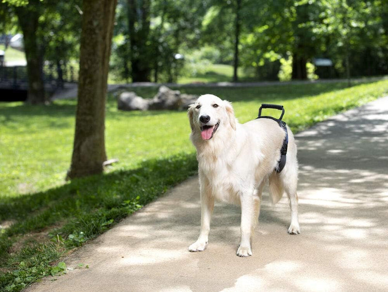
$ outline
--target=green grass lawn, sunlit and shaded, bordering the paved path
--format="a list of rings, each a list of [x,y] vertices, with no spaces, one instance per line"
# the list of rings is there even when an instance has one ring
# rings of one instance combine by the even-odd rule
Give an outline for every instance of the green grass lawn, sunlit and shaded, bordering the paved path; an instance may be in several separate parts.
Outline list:
[[[261,103],[285,106],[294,132],[388,94],[388,80],[250,88],[183,87],[233,102],[246,122]],[[157,89],[135,90],[145,97]],[[112,96],[106,111],[104,175],[65,182],[75,121],[74,100],[49,106],[0,103],[0,291],[19,291],[65,271],[58,260],[121,218],[194,175],[197,169],[185,112],[122,112]],[[278,113],[276,112],[276,115]]]

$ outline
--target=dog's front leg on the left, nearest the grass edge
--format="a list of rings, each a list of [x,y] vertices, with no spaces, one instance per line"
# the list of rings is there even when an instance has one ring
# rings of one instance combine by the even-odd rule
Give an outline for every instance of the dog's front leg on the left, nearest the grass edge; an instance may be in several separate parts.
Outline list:
[[[202,251],[208,245],[210,220],[214,208],[214,197],[206,189],[201,189],[201,230],[194,244],[189,246],[190,251]]]

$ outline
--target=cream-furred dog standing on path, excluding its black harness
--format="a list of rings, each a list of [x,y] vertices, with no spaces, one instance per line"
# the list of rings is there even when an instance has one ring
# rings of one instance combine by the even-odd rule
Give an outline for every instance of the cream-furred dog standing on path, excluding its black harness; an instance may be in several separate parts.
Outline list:
[[[241,205],[241,242],[237,255],[252,255],[251,236],[267,181],[274,204],[283,192],[287,193],[291,208],[288,232],[300,233],[296,194],[298,163],[291,130],[288,128],[286,166],[276,173],[285,132],[275,121],[256,119],[240,124],[231,104],[211,94],[200,96],[189,107],[188,116],[190,138],[197,150],[201,197],[200,235],[189,250],[202,251],[207,246],[214,199],[217,199]],[[202,129],[207,134],[201,133]]]

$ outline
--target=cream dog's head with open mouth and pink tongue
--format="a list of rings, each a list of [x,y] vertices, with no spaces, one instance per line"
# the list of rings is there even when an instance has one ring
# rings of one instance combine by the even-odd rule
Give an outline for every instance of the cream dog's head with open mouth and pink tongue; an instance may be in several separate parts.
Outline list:
[[[192,132],[201,133],[204,140],[210,140],[222,127],[236,130],[236,119],[232,105],[215,95],[201,95],[190,105],[188,116]]]

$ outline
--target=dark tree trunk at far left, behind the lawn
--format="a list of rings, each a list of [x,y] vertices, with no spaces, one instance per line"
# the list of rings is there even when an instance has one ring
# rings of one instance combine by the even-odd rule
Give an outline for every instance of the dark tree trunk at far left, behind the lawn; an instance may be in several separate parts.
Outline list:
[[[45,103],[43,81],[43,54],[36,32],[39,26],[40,1],[31,0],[27,6],[16,7],[18,23],[23,32],[24,51],[27,59],[28,98],[30,104]]]

